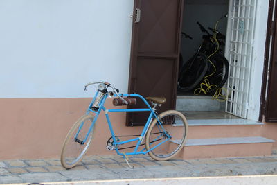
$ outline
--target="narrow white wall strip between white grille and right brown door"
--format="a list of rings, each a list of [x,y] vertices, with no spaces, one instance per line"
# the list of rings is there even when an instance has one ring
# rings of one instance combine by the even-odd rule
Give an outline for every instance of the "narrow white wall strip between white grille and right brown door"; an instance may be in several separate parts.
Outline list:
[[[260,114],[260,96],[262,88],[262,72],[265,62],[265,39],[267,37],[268,9],[269,0],[258,0],[248,112],[248,118],[253,120],[258,120]]]

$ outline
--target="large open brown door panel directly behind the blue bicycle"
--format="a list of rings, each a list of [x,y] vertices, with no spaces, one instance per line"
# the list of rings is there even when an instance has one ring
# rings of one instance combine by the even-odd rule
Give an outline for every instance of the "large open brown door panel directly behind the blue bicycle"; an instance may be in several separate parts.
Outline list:
[[[129,94],[165,96],[159,110],[175,109],[182,0],[135,0]],[[145,107],[141,101],[134,107]],[[132,107],[132,108],[134,108]],[[144,115],[144,116],[143,116]],[[129,113],[127,125],[142,125],[146,113]]]

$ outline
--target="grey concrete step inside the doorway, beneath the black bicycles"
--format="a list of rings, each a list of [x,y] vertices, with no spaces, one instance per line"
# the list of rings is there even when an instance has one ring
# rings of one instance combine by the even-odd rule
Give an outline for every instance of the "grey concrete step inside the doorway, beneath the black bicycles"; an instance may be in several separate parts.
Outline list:
[[[179,111],[220,111],[225,103],[213,100],[212,96],[177,96],[176,109]]]

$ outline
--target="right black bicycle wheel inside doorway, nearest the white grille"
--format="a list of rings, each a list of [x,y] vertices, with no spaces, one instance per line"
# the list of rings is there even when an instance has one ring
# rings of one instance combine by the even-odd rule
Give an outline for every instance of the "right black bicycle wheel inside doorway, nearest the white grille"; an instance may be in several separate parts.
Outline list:
[[[208,77],[208,80],[210,81],[211,85],[217,85],[217,89],[220,89],[224,86],[226,80],[228,79],[228,72],[229,72],[229,62],[224,57],[224,55],[214,55],[211,59],[211,62],[215,64],[216,71],[213,74],[213,76]],[[211,67],[211,64],[209,64],[207,75],[209,73],[213,73],[213,67]],[[215,87],[212,87],[210,91],[208,91],[209,94],[215,94],[215,91],[217,90]]]

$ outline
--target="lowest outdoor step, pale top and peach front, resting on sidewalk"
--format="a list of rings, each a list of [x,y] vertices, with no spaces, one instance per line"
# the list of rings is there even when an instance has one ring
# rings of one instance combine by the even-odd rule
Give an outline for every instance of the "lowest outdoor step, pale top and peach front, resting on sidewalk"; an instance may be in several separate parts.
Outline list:
[[[261,136],[188,139],[179,157],[199,159],[211,157],[243,157],[271,155],[275,141]],[[172,145],[179,143],[172,141]]]

